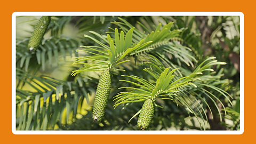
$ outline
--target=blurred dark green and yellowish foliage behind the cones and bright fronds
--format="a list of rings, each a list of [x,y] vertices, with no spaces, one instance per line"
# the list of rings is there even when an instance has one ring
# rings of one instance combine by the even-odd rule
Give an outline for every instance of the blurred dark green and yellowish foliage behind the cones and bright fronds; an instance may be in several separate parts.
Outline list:
[[[132,103],[129,106],[113,108],[113,97],[124,91],[118,87],[129,86],[129,83],[119,82],[121,75],[135,75],[148,79],[150,76],[138,65],[138,60],[128,57],[130,63],[122,65],[125,71],[118,71],[113,77],[113,88],[106,109],[105,119],[101,123],[92,121],[92,105],[99,80],[98,71],[84,72],[71,76],[71,71],[80,68],[73,65],[75,57],[90,55],[81,49],[80,45],[97,45],[84,34],[89,31],[99,34],[111,34],[111,29],[119,28],[115,22],[120,22],[117,16],[52,16],[52,21],[39,49],[30,53],[27,48],[29,37],[40,17],[17,17],[16,27],[16,124],[17,130],[138,130],[137,119],[129,119],[140,110],[142,103]],[[220,99],[213,102],[204,97],[202,91],[193,95],[204,98],[211,111],[205,105],[208,122],[206,130],[239,130],[240,113],[240,37],[239,17],[187,17],[187,16],[154,16],[154,17],[121,17],[142,33],[146,29],[153,31],[159,23],[166,25],[174,22],[171,30],[179,29],[181,33],[170,41],[189,47],[189,54],[203,62],[207,57],[214,56],[227,65],[213,66],[211,83],[207,77],[201,77],[205,84],[218,86],[233,97],[220,97],[221,94],[209,90]],[[96,37],[95,37],[96,38]],[[158,55],[160,57],[160,55]],[[180,68],[181,74],[189,74],[195,67],[186,65],[177,55],[166,55],[173,65]],[[137,65],[136,65],[137,63]],[[197,65],[193,61],[193,65]],[[204,81],[205,78],[205,81]],[[199,100],[199,99],[198,99]],[[199,100],[200,101],[200,100]],[[150,124],[151,130],[201,130],[194,116],[187,113],[185,107],[177,107],[173,101],[158,101],[162,108],[155,108],[155,116]],[[219,111],[214,109],[217,105]],[[223,108],[226,108],[226,115]],[[206,121],[206,119],[200,119]],[[129,123],[128,123],[129,122]]]

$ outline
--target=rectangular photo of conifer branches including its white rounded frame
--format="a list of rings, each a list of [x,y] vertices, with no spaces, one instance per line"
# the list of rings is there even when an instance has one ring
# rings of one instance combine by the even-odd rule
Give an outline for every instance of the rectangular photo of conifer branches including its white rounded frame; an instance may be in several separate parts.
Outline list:
[[[39,14],[13,16],[13,133],[243,133],[242,13]]]

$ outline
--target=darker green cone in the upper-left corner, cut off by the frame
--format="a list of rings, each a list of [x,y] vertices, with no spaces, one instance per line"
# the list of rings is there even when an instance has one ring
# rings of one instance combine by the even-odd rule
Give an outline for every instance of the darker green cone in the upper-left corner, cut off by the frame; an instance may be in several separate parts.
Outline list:
[[[44,34],[50,22],[51,22],[50,16],[42,16],[38,20],[28,42],[28,48],[30,52],[35,51],[37,47],[41,44],[41,41],[44,37]]]

